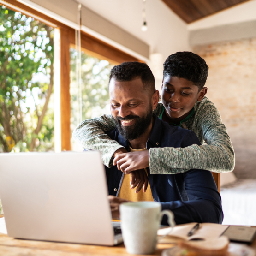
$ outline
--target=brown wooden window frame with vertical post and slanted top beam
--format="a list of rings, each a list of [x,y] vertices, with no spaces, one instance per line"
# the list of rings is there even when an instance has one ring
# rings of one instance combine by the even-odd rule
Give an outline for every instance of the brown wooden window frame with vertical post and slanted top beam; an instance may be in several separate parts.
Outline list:
[[[61,119],[61,150],[71,150],[71,104],[70,104],[70,47],[75,46],[75,30],[62,24],[33,8],[26,6],[17,0],[2,0],[6,7],[14,11],[23,12],[41,22],[60,29],[60,119]],[[18,10],[17,10],[18,9]],[[105,58],[113,64],[119,64],[124,61],[140,61],[137,58],[114,48],[113,46],[93,37],[87,33],[81,32],[81,48],[98,58]]]

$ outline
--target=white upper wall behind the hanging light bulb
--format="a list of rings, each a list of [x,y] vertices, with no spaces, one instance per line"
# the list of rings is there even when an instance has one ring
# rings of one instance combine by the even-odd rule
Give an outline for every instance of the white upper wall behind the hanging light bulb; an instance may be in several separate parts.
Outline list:
[[[164,60],[177,51],[190,50],[187,24],[161,0],[146,0],[146,32],[141,30],[142,0],[81,0],[81,3],[149,44],[151,53],[163,54]]]

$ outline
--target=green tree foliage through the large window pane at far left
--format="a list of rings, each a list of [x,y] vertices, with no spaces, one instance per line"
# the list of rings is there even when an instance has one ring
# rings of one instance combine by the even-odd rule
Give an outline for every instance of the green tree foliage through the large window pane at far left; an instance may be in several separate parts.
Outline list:
[[[0,6],[0,152],[53,149],[53,36],[52,27]]]

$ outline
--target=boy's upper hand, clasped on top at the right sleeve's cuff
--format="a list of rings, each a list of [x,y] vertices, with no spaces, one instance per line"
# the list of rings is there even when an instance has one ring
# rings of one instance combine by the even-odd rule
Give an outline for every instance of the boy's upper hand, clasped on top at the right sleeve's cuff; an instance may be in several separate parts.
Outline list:
[[[149,167],[149,150],[118,154],[113,165],[125,174]]]

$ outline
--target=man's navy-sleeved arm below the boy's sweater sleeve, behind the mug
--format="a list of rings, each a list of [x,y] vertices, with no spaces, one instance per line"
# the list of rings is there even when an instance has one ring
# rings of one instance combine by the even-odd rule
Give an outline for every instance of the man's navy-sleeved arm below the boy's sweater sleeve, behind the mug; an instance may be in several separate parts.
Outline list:
[[[209,171],[193,169],[183,173],[185,190],[190,201],[161,202],[162,210],[171,210],[176,224],[189,222],[222,223],[220,194]],[[167,225],[167,219],[163,219]]]

